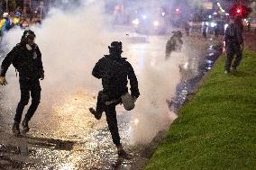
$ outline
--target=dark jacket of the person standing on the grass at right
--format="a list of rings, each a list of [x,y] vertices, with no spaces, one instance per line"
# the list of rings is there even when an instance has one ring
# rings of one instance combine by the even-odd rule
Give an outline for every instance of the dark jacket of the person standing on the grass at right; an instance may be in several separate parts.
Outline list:
[[[243,43],[242,30],[239,25],[230,23],[225,30],[226,45],[241,45]]]

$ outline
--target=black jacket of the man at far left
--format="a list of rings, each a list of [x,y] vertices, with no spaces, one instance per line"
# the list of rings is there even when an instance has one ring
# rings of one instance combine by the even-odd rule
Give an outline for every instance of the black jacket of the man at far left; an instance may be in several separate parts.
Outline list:
[[[41,51],[36,44],[33,45],[32,50],[17,44],[2,62],[1,76],[5,76],[11,64],[17,69],[19,76],[22,77],[39,79],[44,74],[41,63]]]

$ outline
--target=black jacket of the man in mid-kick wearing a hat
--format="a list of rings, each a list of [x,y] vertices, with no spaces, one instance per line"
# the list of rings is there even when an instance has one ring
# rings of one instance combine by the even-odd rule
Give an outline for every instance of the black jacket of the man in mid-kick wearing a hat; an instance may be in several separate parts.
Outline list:
[[[128,92],[128,80],[130,80],[131,93],[133,97],[140,95],[138,81],[134,74],[132,65],[126,61],[126,58],[105,55],[96,63],[92,75],[102,79],[103,92],[110,99],[118,99],[121,95]]]

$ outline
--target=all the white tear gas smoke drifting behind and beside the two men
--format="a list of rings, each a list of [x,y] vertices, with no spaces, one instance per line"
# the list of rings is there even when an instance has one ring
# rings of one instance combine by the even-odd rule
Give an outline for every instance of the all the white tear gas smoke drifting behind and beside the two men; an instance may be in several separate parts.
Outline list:
[[[91,89],[94,92],[101,89],[101,82],[91,75],[92,69],[99,58],[108,54],[107,46],[112,40],[123,41],[125,57],[125,35],[111,28],[110,17],[102,12],[102,4],[84,4],[72,13],[51,9],[48,18],[41,25],[31,29],[36,34],[36,43],[41,49],[45,79],[41,81],[41,104],[39,110],[47,110],[53,103],[58,103],[64,94],[71,94],[78,89]],[[3,40],[5,51],[9,51],[21,39],[23,31],[9,31]],[[162,45],[164,58],[165,44]],[[136,54],[134,54],[136,55]],[[169,112],[166,100],[170,99],[179,82],[178,64],[183,54],[173,55],[169,61],[159,62],[152,66],[145,60],[144,67],[138,73],[141,96],[133,110],[131,135],[133,143],[146,143],[159,130],[168,128],[176,114]],[[133,63],[133,62],[132,62]],[[137,63],[136,63],[137,64]],[[4,88],[6,108],[15,111],[20,99],[18,78],[14,68],[8,70],[6,76],[8,85]],[[37,111],[39,113],[39,111]],[[48,116],[49,115],[48,111]],[[14,116],[14,115],[13,115]],[[64,119],[64,118],[63,118]],[[11,120],[11,119],[10,119]]]

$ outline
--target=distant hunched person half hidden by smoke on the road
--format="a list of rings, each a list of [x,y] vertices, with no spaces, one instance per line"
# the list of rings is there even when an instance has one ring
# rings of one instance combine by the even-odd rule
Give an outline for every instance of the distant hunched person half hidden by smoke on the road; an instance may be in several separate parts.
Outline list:
[[[181,31],[173,31],[173,35],[169,38],[166,43],[165,49],[165,58],[168,59],[172,51],[181,51],[181,47],[183,44],[182,32]]]

